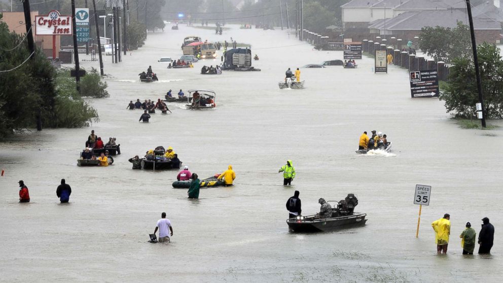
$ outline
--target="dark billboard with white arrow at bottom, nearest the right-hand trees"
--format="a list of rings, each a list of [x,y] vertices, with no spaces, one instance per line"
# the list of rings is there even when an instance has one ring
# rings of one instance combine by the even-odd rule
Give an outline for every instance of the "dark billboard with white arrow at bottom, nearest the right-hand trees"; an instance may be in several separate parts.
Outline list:
[[[409,72],[411,97],[439,97],[437,69]]]

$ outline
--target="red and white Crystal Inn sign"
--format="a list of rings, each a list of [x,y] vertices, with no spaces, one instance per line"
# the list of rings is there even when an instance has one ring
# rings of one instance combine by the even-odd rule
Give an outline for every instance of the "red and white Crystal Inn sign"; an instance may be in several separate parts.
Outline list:
[[[71,15],[60,15],[53,10],[47,16],[35,16],[35,34],[37,36],[71,36]]]

